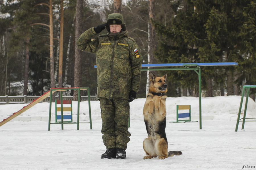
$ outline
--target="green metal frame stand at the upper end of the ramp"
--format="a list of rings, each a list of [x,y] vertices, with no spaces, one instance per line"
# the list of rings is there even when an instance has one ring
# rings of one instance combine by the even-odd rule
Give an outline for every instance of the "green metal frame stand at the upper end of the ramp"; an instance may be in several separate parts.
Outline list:
[[[64,122],[63,121],[63,100],[62,92],[66,90],[78,90],[77,93],[77,122]],[[88,93],[88,109],[89,109],[89,120],[90,122],[79,122],[79,110],[80,110],[80,90],[87,90]],[[51,123],[51,100],[52,94],[60,91],[60,101],[61,101],[61,122],[60,123]],[[74,88],[51,88],[50,89],[50,106],[49,106],[49,121],[48,121],[48,131],[50,130],[51,124],[61,124],[61,129],[63,130],[63,124],[77,124],[77,130],[79,130],[80,123],[90,123],[90,129],[92,129],[92,117],[91,117],[91,104],[90,104],[90,89],[88,87],[74,87]]]

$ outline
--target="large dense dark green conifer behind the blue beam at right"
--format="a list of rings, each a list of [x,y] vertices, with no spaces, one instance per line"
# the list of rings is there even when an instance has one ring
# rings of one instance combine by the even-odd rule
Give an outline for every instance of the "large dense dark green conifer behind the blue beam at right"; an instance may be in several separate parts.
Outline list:
[[[175,14],[172,22],[167,25],[155,22],[156,30],[163,37],[158,43],[156,56],[164,63],[242,61],[245,39],[239,33],[249,4],[253,14],[255,3],[251,1],[173,1],[171,8]],[[227,77],[229,90],[234,85],[235,67],[203,67],[203,88],[207,89],[211,80],[224,84],[225,72],[230,73]],[[183,87],[197,84],[196,77],[195,73],[187,71],[177,71],[170,76],[174,82],[180,81]],[[230,94],[234,92],[228,91]]]

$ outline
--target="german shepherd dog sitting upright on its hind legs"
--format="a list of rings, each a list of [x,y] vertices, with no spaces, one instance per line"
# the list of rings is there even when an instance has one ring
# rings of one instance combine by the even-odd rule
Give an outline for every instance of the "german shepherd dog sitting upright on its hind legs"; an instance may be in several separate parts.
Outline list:
[[[144,122],[148,132],[148,138],[143,141],[143,149],[146,155],[143,159],[165,159],[174,155],[181,155],[181,151],[169,151],[165,134],[166,127],[166,109],[165,100],[167,96],[166,75],[156,77],[149,72],[151,81],[149,93],[143,108]]]

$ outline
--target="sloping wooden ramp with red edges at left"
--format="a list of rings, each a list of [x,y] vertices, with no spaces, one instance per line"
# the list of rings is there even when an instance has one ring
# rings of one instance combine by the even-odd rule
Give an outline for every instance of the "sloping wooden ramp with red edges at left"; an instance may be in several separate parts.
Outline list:
[[[28,110],[29,108],[31,108],[32,106],[36,105],[37,103],[39,103],[40,101],[44,100],[46,97],[48,97],[50,95],[50,90],[48,92],[45,92],[43,95],[41,95],[40,97],[38,97],[37,99],[35,99],[32,103],[28,104],[27,106],[24,106],[22,109],[20,109],[18,112],[13,113],[13,115],[9,116],[8,118],[4,119],[2,122],[0,122],[0,126],[2,126],[3,124],[9,122],[10,120],[12,120],[13,118],[16,118],[18,115],[22,114],[23,112],[25,112],[26,110]]]

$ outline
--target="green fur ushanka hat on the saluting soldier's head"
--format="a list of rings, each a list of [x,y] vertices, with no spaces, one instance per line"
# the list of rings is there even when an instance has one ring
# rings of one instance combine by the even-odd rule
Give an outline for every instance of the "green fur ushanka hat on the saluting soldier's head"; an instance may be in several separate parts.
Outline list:
[[[122,30],[123,31],[126,30],[126,25],[123,22],[123,16],[122,14],[119,14],[119,13],[113,13],[108,15],[107,26],[106,26],[106,29],[108,32],[110,31],[109,25],[121,25]]]

